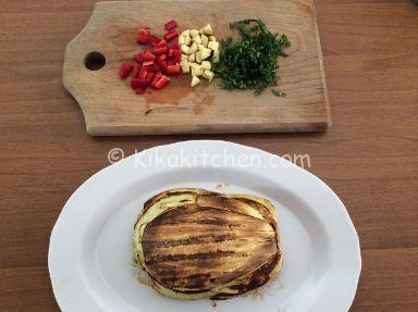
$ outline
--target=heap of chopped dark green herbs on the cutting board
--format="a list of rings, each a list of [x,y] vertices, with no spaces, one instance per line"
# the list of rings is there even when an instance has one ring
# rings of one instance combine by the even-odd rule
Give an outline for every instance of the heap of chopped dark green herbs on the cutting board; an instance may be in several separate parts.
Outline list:
[[[243,20],[230,24],[238,29],[242,38],[222,42],[221,60],[214,72],[221,77],[221,87],[232,89],[255,89],[259,95],[274,83],[278,57],[287,57],[283,48],[291,42],[286,35],[271,34],[261,20]]]

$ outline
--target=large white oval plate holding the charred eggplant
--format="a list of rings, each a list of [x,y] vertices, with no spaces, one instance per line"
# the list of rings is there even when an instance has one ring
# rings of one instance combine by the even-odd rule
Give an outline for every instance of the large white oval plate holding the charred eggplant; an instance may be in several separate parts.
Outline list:
[[[210,300],[169,299],[139,283],[132,265],[136,216],[145,200],[173,187],[271,200],[284,257],[276,278],[216,308]],[[258,149],[197,140],[143,151],[85,182],[53,227],[48,265],[65,312],[340,312],[352,304],[361,259],[347,211],[319,178]]]

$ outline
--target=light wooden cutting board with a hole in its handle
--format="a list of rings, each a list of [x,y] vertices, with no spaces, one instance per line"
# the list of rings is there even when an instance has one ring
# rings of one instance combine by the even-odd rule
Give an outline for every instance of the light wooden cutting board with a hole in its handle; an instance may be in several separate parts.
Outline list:
[[[286,97],[273,96],[271,88],[260,96],[226,91],[217,79],[190,88],[189,75],[174,77],[161,91],[135,95],[118,70],[144,49],[135,42],[139,28],[162,35],[172,18],[180,32],[209,23],[217,38],[231,36],[230,22],[244,18],[261,18],[272,32],[286,34],[290,57],[279,59],[279,89]],[[101,68],[87,68],[104,59]],[[96,136],[316,132],[331,125],[312,0],[98,2],[66,47],[63,83],[83,110],[87,132]]]

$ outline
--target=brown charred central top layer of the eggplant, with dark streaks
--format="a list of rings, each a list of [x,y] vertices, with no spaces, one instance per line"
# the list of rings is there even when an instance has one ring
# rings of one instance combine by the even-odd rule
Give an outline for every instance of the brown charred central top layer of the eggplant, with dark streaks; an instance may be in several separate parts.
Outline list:
[[[275,241],[275,232],[261,220],[187,205],[151,221],[144,232],[143,248],[146,265],[159,272],[153,274],[158,283],[170,288],[194,288],[195,276],[202,274],[210,277],[199,283],[211,288],[268,261],[278,251]]]

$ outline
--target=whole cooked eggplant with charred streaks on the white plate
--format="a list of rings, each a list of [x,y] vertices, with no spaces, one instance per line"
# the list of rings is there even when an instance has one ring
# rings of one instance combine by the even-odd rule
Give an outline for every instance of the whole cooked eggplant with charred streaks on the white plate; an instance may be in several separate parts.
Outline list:
[[[134,259],[167,297],[239,296],[282,267],[275,209],[250,195],[165,190],[144,204],[134,227]]]

